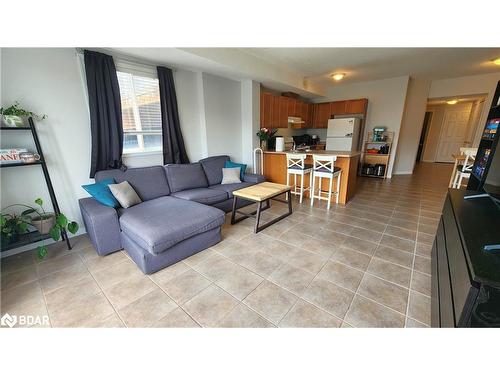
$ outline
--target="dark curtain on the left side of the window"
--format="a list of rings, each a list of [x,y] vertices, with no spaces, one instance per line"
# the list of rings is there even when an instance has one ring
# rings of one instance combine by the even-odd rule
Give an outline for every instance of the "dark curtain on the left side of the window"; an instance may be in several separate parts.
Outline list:
[[[113,57],[84,51],[89,95],[92,158],[90,177],[97,171],[125,168],[120,88]]]

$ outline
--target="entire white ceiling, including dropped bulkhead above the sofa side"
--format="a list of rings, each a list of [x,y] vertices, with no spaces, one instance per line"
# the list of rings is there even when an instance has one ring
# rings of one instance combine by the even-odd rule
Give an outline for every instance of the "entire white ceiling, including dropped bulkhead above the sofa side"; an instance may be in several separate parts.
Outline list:
[[[233,79],[253,79],[279,91],[319,97],[331,85],[400,76],[428,80],[500,72],[500,48],[111,48],[168,66]],[[346,73],[334,82],[333,72]]]

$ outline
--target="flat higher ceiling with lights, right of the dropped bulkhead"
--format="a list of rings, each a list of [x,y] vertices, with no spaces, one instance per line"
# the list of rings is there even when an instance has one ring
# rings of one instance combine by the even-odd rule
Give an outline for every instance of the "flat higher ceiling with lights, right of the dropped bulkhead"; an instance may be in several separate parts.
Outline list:
[[[346,73],[342,83],[410,75],[443,79],[500,71],[491,60],[500,48],[246,48],[245,52],[287,66],[308,80],[333,84],[333,72]]]

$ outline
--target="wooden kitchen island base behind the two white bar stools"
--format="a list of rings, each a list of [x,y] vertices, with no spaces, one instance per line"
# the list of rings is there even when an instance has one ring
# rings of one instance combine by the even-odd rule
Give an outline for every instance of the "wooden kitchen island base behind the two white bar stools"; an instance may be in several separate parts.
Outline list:
[[[266,180],[278,184],[286,184],[286,154],[291,151],[264,151],[264,175]],[[360,151],[329,151],[329,150],[311,150],[299,153],[308,155],[306,164],[312,164],[312,155],[336,155],[337,161],[335,166],[342,168],[340,177],[340,194],[339,203],[346,204],[356,193],[356,180],[358,175],[358,164],[361,155]],[[290,182],[293,182],[293,177]],[[299,181],[300,177],[297,177]],[[333,186],[336,185],[334,180]],[[309,187],[309,178],[304,180],[304,187]],[[323,191],[328,191],[328,181],[323,179]],[[309,197],[309,192],[305,192],[304,196]],[[335,196],[332,195],[332,203],[335,203]]]

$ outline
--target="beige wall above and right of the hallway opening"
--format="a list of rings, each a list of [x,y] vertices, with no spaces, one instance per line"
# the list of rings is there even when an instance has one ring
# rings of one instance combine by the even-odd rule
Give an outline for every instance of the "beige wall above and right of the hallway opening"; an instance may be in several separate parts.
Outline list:
[[[431,83],[429,98],[487,94],[483,104],[479,126],[474,136],[473,144],[478,144],[484,124],[486,123],[486,118],[488,117],[491,101],[493,100],[498,81],[500,81],[500,73],[435,80]]]

